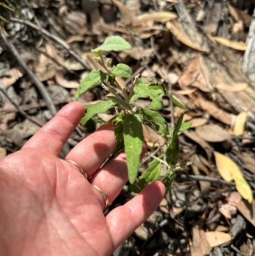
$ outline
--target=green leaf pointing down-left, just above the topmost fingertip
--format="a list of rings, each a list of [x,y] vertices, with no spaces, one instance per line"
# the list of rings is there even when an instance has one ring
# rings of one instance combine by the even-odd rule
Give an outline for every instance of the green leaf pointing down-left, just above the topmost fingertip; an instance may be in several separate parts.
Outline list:
[[[92,72],[85,77],[85,79],[78,86],[77,91],[75,93],[75,100],[79,98],[80,95],[87,93],[90,89],[98,86],[106,79],[106,73],[101,70],[92,70]]]

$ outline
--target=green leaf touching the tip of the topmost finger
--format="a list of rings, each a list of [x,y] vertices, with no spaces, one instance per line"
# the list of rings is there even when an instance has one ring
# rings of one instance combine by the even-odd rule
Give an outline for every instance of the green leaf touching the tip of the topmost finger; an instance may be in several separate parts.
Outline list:
[[[105,102],[98,102],[93,105],[87,105],[87,114],[82,118],[80,123],[84,126],[89,119],[98,113],[106,113],[110,108],[114,107],[116,104],[112,100],[106,100]]]

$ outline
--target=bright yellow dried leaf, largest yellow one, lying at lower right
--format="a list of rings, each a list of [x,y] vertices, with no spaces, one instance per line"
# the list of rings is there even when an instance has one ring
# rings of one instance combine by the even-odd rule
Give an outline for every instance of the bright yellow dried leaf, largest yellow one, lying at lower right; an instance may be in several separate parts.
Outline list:
[[[235,162],[233,162],[228,156],[224,156],[217,151],[214,151],[215,162],[219,174],[225,181],[231,181],[234,179],[237,191],[248,202],[252,202],[252,190],[247,181],[245,181],[242,172]]]

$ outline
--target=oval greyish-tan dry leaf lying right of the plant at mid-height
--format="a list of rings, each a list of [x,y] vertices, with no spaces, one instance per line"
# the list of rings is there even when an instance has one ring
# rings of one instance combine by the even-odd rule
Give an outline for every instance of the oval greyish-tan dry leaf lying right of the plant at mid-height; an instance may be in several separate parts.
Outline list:
[[[195,129],[196,135],[207,142],[223,142],[231,140],[228,132],[217,124],[205,124]]]

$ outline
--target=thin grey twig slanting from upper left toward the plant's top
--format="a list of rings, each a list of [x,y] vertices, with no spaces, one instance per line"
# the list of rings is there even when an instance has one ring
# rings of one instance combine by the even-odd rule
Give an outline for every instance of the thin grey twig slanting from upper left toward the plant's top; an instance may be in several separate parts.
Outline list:
[[[18,19],[18,18],[11,18],[11,21],[18,22],[18,23],[21,23],[21,24],[25,24],[29,27],[32,27],[33,29],[36,29],[39,33],[41,33],[41,34],[47,36],[48,38],[51,38],[52,40],[56,41],[57,43],[62,45],[62,47],[64,47],[64,49],[68,50],[69,54],[71,54],[71,56],[73,56],[80,64],[82,64],[82,66],[84,66],[85,69],[91,71],[91,68],[61,38],[55,36],[54,34],[50,34],[47,30],[41,29],[40,27],[36,26],[35,24],[33,24],[32,22],[29,22],[27,20],[21,20],[21,19]]]

